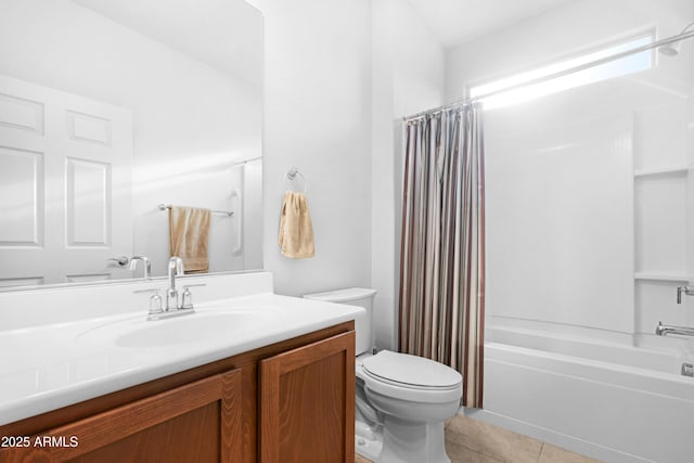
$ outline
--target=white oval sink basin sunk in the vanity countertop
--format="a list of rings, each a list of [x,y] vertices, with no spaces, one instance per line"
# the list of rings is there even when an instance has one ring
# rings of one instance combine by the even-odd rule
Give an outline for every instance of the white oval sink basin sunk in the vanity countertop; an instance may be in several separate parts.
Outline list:
[[[271,320],[277,320],[277,308],[233,309],[185,314],[167,320],[137,319],[107,323],[77,336],[78,342],[111,340],[117,347],[146,348],[214,343],[253,334]]]

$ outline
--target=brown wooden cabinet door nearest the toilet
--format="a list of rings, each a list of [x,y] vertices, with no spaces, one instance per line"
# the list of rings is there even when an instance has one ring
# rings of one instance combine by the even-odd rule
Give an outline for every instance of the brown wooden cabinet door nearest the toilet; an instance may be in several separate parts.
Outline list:
[[[355,332],[260,362],[260,462],[355,461]]]

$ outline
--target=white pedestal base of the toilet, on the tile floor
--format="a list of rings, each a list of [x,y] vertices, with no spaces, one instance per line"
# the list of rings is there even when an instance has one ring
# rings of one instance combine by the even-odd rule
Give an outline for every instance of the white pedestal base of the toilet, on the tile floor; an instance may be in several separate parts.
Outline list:
[[[386,416],[383,449],[376,463],[451,463],[446,453],[444,423],[412,423]]]

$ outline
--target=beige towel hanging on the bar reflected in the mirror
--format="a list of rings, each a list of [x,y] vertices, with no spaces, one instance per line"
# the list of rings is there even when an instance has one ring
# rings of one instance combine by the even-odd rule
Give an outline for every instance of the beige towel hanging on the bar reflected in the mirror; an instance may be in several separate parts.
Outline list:
[[[183,259],[185,273],[209,269],[209,209],[171,206],[169,209],[169,253]]]

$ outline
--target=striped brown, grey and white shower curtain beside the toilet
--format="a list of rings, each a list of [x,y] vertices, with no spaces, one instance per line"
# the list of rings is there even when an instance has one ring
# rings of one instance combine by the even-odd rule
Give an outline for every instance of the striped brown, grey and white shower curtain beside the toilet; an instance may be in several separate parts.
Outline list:
[[[481,106],[407,121],[399,348],[463,375],[483,406],[485,182]]]

